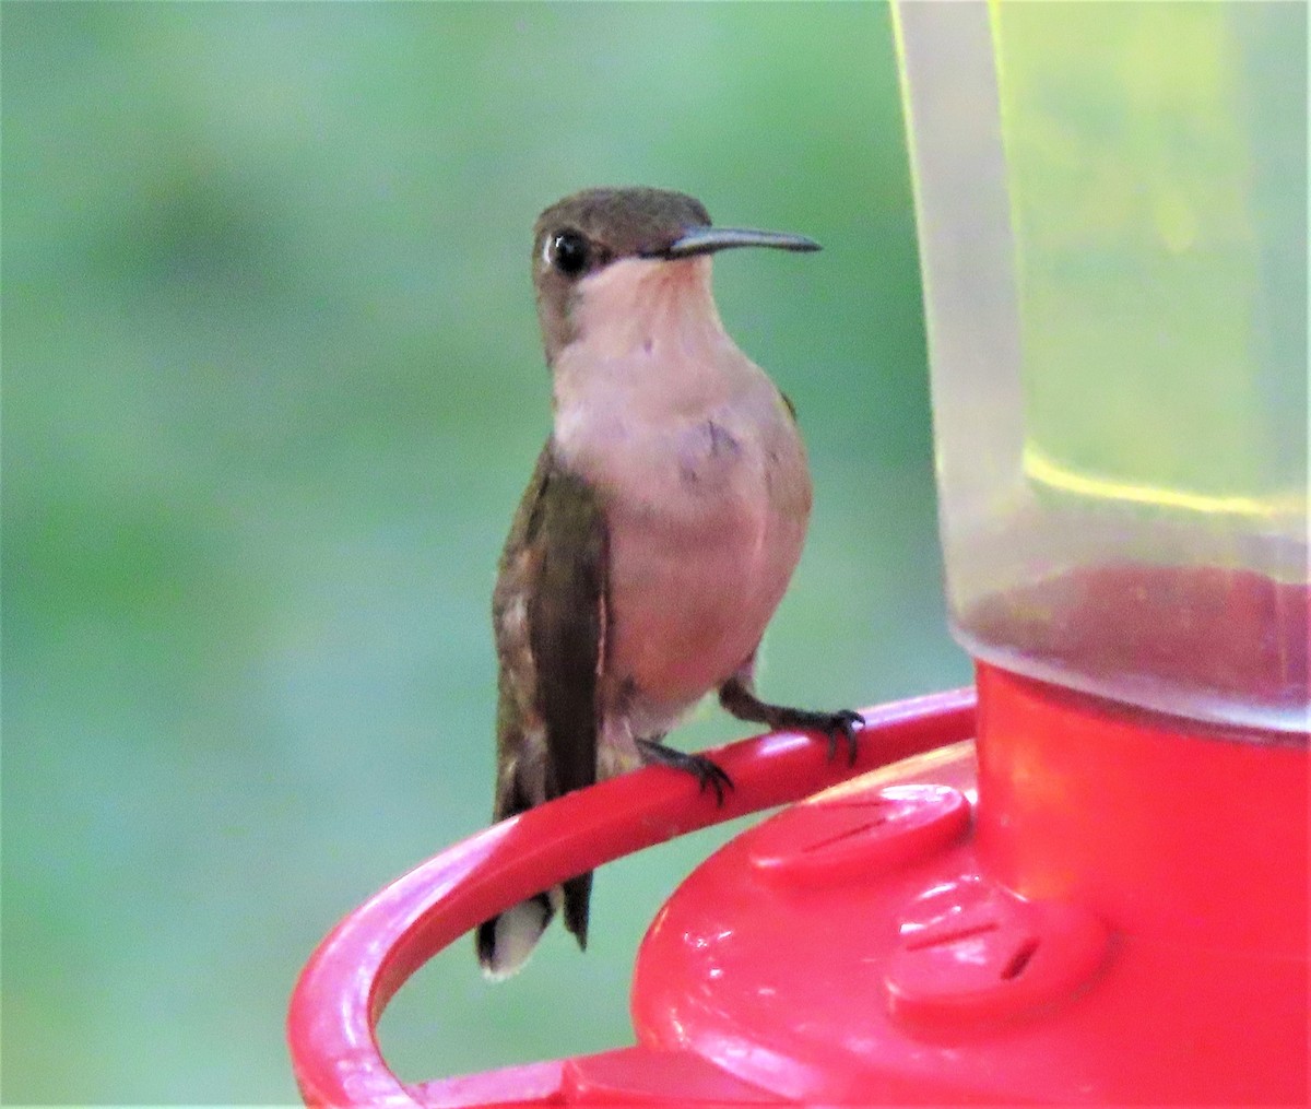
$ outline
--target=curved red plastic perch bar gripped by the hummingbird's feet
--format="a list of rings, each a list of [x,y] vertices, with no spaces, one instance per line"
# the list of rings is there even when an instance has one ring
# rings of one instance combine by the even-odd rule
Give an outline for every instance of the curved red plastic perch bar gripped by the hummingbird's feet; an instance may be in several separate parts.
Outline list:
[[[405,981],[464,932],[573,874],[684,832],[784,805],[974,734],[973,690],[865,709],[853,766],[806,733],[713,751],[735,788],[717,807],[687,775],[649,767],[561,797],[450,847],[346,916],[291,996],[287,1037],[308,1104],[416,1105],[383,1060],[378,1019]]]

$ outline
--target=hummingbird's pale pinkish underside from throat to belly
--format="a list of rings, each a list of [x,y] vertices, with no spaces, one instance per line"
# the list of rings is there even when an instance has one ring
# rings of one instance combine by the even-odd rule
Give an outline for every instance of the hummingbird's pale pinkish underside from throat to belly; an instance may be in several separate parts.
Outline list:
[[[610,536],[604,684],[648,734],[755,650],[810,515],[796,423],[709,278],[707,257],[607,266],[552,367],[557,456],[600,494]]]

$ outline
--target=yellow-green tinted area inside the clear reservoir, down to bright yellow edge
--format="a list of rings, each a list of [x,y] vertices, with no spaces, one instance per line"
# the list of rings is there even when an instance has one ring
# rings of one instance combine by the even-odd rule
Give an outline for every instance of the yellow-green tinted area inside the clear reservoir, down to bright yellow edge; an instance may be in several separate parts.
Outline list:
[[[1268,94],[1306,89],[1287,7],[990,4],[1040,494],[1304,513],[1306,111]]]

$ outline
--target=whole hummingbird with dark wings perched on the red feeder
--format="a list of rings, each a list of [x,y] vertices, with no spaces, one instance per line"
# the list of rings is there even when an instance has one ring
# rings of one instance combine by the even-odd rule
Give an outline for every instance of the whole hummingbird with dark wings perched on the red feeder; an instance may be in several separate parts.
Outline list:
[[[553,426],[510,526],[492,595],[499,659],[494,819],[644,764],[729,776],[665,735],[712,691],[739,720],[805,729],[856,755],[863,717],[767,704],[756,653],[801,556],[812,486],[796,409],[729,338],[718,250],[818,250],[725,229],[692,197],[589,189],[532,239]],[[557,911],[587,943],[591,874],[484,922],[493,979]]]

